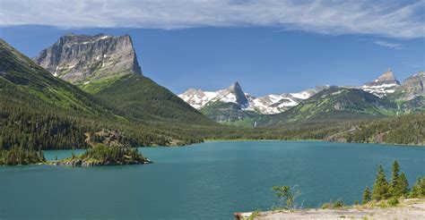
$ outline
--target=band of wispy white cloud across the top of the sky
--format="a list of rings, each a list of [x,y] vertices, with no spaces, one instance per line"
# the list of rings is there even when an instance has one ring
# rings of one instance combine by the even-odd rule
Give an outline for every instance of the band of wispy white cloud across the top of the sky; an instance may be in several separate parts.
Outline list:
[[[0,0],[0,26],[62,28],[273,26],[325,34],[423,38],[425,1]]]

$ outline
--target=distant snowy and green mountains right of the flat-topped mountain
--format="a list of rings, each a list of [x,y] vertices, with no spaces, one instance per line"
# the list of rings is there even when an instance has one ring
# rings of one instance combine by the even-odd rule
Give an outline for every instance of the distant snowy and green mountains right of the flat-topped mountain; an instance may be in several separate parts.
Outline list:
[[[418,72],[401,84],[388,69],[377,80],[363,86],[320,86],[296,93],[254,97],[235,82],[229,89],[188,89],[178,97],[217,122],[270,125],[277,120],[281,120],[279,123],[328,120],[333,118],[331,113],[341,119],[360,119],[421,111],[425,106],[423,81],[424,72]]]

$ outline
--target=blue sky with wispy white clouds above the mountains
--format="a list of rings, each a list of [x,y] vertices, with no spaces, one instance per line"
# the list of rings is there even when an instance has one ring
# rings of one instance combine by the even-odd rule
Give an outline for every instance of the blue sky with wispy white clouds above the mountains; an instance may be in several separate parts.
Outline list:
[[[128,33],[143,73],[175,93],[238,80],[262,96],[425,70],[424,1],[15,2],[0,2],[0,37],[25,55],[68,32]]]

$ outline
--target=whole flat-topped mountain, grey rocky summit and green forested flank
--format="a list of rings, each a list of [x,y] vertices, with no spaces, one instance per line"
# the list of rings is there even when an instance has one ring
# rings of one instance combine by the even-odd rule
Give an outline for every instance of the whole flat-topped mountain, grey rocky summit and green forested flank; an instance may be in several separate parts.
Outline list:
[[[214,126],[169,89],[143,76],[128,35],[65,35],[34,60],[54,76],[116,107],[134,123]]]

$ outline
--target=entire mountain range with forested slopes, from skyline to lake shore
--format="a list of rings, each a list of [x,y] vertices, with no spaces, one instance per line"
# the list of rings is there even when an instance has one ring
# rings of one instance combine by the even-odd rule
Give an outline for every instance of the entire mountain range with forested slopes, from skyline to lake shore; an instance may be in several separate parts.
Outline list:
[[[68,34],[32,59],[0,39],[0,149],[89,148],[88,138],[123,146],[205,139],[421,144],[425,114],[416,113],[425,112],[424,73],[399,83],[388,70],[363,86],[264,97],[245,93],[238,82],[176,96],[143,75],[128,35]],[[363,129],[364,120],[401,114],[407,115]],[[113,137],[96,136],[108,133]]]

